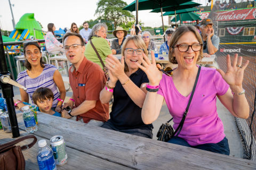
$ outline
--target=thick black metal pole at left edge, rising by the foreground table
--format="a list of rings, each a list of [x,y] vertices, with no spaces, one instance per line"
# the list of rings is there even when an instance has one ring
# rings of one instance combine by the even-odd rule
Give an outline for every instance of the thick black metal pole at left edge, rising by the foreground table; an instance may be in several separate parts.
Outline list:
[[[7,63],[6,63],[6,58],[4,54],[2,32],[0,29],[0,77],[2,77],[2,75],[9,75],[12,79],[12,74],[8,72],[8,69],[7,69]],[[12,129],[12,137],[17,138],[20,136],[20,131],[19,131],[17,116],[15,113],[15,108],[13,103],[13,97],[14,97],[13,88],[11,84],[2,83],[2,81],[0,81],[0,86],[2,88],[3,96],[5,98],[7,109],[8,109],[9,120],[11,124],[11,129]]]

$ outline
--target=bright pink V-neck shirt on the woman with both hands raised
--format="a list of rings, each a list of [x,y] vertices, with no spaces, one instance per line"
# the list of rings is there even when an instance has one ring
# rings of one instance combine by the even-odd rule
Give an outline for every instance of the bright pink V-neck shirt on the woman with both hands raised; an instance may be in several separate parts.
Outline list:
[[[201,67],[196,90],[188,109],[183,128],[178,137],[189,145],[218,143],[225,137],[223,123],[217,113],[217,96],[225,95],[229,85],[215,69]],[[175,88],[172,77],[163,74],[157,94],[164,97],[170,114],[173,116],[173,128],[177,129],[189,98],[182,96]]]

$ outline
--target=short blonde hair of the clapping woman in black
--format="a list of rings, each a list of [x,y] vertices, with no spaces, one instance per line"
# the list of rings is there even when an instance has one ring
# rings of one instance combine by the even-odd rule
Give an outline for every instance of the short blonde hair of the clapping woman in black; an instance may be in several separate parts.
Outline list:
[[[145,53],[146,56],[148,57],[148,49],[147,49],[147,47],[146,47],[144,41],[142,40],[142,38],[139,37],[139,36],[130,36],[130,37],[125,38],[124,43],[123,43],[123,46],[122,46],[122,56],[125,56],[125,55],[124,55],[125,46],[126,46],[127,43],[128,43],[129,41],[131,41],[131,40],[134,42],[134,44],[135,44],[135,46],[136,46],[137,48],[143,49],[143,50],[144,50],[144,53]],[[126,63],[124,63],[124,72],[128,72],[128,71],[129,71],[128,66],[127,66]]]

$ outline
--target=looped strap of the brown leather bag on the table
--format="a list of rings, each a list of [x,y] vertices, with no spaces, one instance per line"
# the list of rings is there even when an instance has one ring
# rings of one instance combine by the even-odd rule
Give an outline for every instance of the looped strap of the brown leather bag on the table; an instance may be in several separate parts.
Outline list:
[[[19,143],[19,142],[21,142],[23,140],[30,139],[30,138],[34,139],[33,142],[31,142],[29,145],[26,144],[26,145],[21,146],[21,150],[29,149],[29,148],[33,147],[35,145],[36,141],[37,141],[37,138],[35,137],[35,135],[26,135],[25,137],[21,137],[19,139],[14,140],[14,141],[5,143],[3,145],[0,145],[0,150],[3,150],[5,148],[7,148],[7,147],[13,146],[16,143]]]

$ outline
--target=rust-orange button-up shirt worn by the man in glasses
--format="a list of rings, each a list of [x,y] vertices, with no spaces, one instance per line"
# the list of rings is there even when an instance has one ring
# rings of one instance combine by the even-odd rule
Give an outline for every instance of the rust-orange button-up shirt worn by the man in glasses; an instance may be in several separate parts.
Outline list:
[[[102,71],[99,64],[87,60],[85,57],[77,69],[71,66],[69,69],[69,83],[73,90],[75,108],[85,100],[97,100],[94,108],[81,115],[84,123],[90,120],[106,122],[109,119],[109,103],[102,104],[100,101],[100,91],[105,87],[107,81],[106,74]]]

